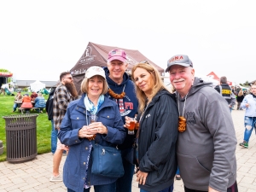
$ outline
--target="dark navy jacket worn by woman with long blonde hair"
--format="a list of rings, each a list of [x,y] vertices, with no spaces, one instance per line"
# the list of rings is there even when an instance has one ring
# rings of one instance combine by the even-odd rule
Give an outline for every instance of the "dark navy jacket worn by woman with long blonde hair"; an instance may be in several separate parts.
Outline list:
[[[160,90],[140,119],[138,160],[142,172],[148,172],[146,191],[160,191],[171,186],[177,171],[176,141],[178,112],[175,95]]]

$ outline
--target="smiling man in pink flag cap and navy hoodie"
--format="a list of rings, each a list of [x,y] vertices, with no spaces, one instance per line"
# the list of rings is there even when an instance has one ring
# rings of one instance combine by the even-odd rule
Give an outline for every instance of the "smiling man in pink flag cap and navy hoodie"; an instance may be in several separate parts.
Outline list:
[[[125,70],[128,67],[126,53],[122,49],[113,49],[108,53],[108,67],[104,68],[106,79],[108,82],[109,99],[118,103],[119,112],[125,124],[125,116],[134,118],[137,114],[137,97],[135,95],[134,84],[130,80]],[[127,129],[125,141],[119,144],[122,151],[123,165],[125,175],[119,177],[116,182],[117,192],[131,192],[131,183],[135,165],[126,158],[129,152],[133,150],[132,145],[135,142],[136,135],[128,135]]]

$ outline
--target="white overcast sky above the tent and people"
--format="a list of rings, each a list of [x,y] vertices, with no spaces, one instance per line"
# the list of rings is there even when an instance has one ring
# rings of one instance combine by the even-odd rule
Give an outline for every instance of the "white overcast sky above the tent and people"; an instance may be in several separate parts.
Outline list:
[[[1,1],[0,68],[58,80],[89,42],[137,49],[160,67],[189,55],[195,73],[239,83],[255,75],[254,1]],[[166,73],[166,75],[168,75]]]

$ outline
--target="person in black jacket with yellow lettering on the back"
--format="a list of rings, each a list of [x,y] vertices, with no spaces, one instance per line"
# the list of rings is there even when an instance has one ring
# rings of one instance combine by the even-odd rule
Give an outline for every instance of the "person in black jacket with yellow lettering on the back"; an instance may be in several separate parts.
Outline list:
[[[232,112],[233,107],[236,105],[236,96],[232,92],[233,90],[231,90],[226,77],[221,77],[219,81],[220,85],[217,85],[214,89],[228,102],[230,112]]]

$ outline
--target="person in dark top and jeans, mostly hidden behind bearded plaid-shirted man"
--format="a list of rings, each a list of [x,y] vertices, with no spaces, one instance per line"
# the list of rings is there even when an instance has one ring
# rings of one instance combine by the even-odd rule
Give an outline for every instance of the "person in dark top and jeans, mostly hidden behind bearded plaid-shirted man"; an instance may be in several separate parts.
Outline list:
[[[52,154],[55,154],[55,150],[57,147],[57,135],[58,135],[58,130],[55,129],[55,124],[53,121],[53,101],[54,101],[53,99],[54,99],[55,89],[56,89],[56,86],[51,88],[49,92],[49,97],[45,105],[45,110],[46,110],[46,113],[48,114],[48,119],[51,122],[50,150]]]

